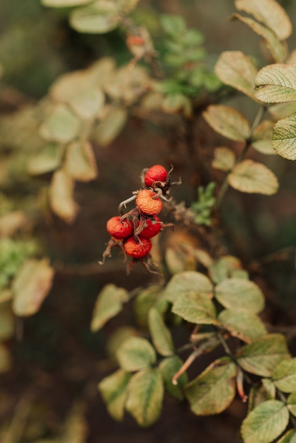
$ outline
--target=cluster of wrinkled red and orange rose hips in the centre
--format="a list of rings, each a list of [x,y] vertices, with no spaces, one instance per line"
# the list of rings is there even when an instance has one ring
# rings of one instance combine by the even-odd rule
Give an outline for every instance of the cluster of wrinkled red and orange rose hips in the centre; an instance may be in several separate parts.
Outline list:
[[[110,234],[106,250],[103,253],[103,264],[106,257],[111,256],[111,248],[119,246],[125,257],[132,258],[127,265],[127,273],[132,265],[140,261],[149,272],[151,270],[150,251],[152,242],[150,238],[159,234],[161,229],[173,224],[164,224],[158,217],[163,207],[163,200],[169,201],[171,183],[171,170],[168,172],[161,165],[154,165],[142,171],[142,189],[132,192],[132,197],[120,203],[118,210],[120,215],[111,217],[106,228]],[[124,214],[127,203],[135,200],[135,207]]]

